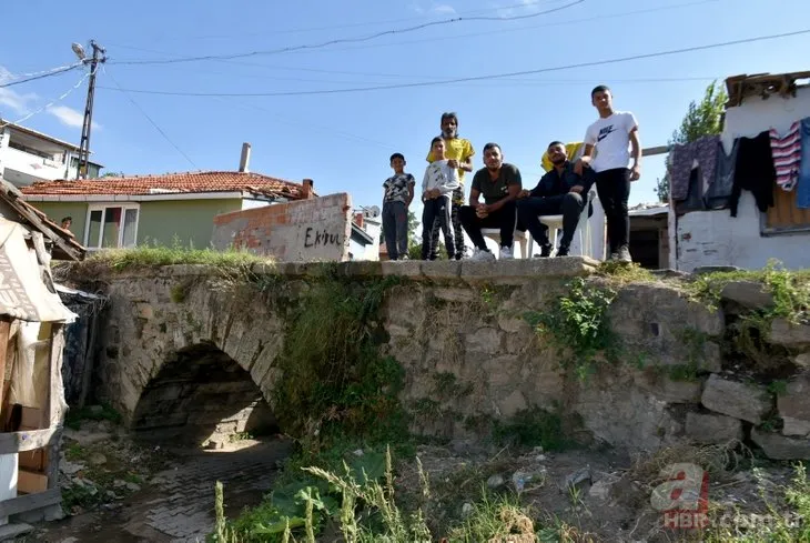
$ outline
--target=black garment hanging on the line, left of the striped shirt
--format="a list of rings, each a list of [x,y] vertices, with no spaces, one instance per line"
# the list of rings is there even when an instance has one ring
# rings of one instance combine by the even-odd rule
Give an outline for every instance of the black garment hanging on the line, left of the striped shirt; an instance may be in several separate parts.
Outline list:
[[[729,201],[731,217],[737,217],[737,204],[743,190],[753,193],[757,208],[765,213],[773,205],[773,183],[777,180],[770,131],[760,132],[756,138],[740,138],[738,144],[735,184]]]

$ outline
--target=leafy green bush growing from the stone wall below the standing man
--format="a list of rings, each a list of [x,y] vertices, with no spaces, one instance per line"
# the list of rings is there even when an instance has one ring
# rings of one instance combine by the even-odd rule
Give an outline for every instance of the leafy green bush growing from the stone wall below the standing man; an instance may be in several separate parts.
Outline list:
[[[607,312],[616,291],[588,284],[576,278],[549,312],[528,312],[525,319],[556,349],[560,364],[579,380],[596,372],[603,361],[617,356],[617,339]]]

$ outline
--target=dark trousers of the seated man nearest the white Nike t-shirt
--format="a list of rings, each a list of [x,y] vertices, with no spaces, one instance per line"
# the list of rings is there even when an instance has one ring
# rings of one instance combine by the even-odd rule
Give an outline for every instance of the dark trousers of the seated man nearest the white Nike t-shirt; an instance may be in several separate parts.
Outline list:
[[[524,198],[517,201],[517,217],[531,238],[540,245],[549,245],[548,227],[540,222],[541,215],[563,215],[563,239],[560,247],[569,247],[579,222],[586,200],[581,194],[568,192],[554,197]]]

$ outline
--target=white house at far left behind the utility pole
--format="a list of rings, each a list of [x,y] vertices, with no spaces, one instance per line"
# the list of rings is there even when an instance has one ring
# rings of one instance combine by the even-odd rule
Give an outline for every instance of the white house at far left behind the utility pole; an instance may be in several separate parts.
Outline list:
[[[78,167],[77,145],[0,119],[0,174],[13,185],[75,179]],[[101,168],[89,162],[87,177],[98,178]]]

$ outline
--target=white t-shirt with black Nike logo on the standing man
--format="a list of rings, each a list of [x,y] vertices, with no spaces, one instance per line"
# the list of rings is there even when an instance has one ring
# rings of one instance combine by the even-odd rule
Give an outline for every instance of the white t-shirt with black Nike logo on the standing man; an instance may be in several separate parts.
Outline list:
[[[630,132],[636,128],[638,122],[629,111],[615,111],[588,127],[585,143],[596,148],[596,157],[590,162],[594,171],[629,168]]]

